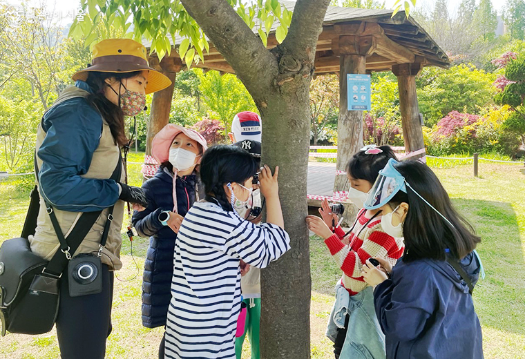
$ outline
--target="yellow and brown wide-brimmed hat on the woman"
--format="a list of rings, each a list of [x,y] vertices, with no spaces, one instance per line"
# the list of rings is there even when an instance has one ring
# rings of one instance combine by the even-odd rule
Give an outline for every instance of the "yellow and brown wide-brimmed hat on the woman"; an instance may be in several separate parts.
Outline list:
[[[88,72],[133,72],[148,70],[146,94],[155,93],[171,85],[171,80],[149,67],[146,48],[131,39],[106,39],[93,48],[91,66],[75,72],[73,81],[86,81]]]

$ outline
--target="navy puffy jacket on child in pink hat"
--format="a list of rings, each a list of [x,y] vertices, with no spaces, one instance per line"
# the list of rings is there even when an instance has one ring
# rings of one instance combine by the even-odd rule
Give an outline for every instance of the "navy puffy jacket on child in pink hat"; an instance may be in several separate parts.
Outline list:
[[[196,200],[196,175],[178,177],[178,213],[186,215]],[[155,177],[142,184],[148,199],[148,207],[133,214],[133,226],[141,237],[149,238],[149,247],[144,262],[142,283],[142,325],[148,328],[166,324],[171,300],[171,277],[173,275],[173,248],[177,235],[159,220],[162,211],[173,211],[173,177],[163,167]]]

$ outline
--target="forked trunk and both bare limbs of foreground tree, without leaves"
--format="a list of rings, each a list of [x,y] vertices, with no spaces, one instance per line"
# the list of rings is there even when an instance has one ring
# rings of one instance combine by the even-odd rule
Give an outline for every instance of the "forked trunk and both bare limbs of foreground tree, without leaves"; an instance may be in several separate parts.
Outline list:
[[[309,84],[329,2],[298,0],[285,41],[267,50],[227,1],[182,0],[254,98],[264,122],[262,161],[280,166],[280,199],[292,249],[262,271],[261,355],[266,359],[310,357]]]

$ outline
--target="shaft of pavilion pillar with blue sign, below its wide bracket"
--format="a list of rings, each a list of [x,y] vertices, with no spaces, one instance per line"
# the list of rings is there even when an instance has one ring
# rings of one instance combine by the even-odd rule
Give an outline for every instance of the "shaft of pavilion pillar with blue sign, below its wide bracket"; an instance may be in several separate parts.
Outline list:
[[[363,111],[349,111],[347,74],[364,74],[366,56],[341,54],[339,118],[337,121],[337,169],[346,171],[350,159],[363,147]],[[334,191],[343,191],[346,177],[336,176]]]

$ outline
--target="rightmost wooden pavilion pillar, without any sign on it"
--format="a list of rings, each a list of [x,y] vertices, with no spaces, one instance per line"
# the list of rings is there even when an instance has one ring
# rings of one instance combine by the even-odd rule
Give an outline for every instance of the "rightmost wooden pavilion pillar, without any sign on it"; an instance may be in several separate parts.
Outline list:
[[[397,84],[399,86],[399,109],[401,110],[403,139],[405,140],[405,151],[407,152],[425,148],[416,92],[416,75],[420,70],[421,64],[417,63],[392,66],[392,72],[397,76]],[[411,158],[417,159],[423,157],[423,155]]]

